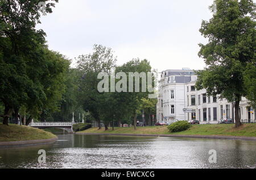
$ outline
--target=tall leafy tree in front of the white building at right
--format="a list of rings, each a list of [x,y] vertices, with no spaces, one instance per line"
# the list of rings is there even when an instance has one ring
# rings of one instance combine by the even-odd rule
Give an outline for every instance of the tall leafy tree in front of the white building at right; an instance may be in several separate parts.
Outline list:
[[[246,97],[245,72],[255,60],[255,3],[251,0],[216,0],[217,12],[209,22],[203,20],[200,32],[209,43],[199,44],[199,57],[207,67],[197,72],[196,88],[208,95],[220,94],[235,102],[236,127],[241,97]],[[210,6],[213,11],[214,6]]]

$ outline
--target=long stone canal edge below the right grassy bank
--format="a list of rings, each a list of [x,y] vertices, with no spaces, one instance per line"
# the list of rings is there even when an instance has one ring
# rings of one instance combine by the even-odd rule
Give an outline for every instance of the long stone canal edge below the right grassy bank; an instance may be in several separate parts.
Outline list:
[[[107,136],[151,136],[151,137],[191,137],[204,139],[250,140],[256,141],[256,137],[245,136],[206,136],[206,135],[150,135],[150,134],[114,134],[114,133],[76,133],[77,135],[107,135]]]

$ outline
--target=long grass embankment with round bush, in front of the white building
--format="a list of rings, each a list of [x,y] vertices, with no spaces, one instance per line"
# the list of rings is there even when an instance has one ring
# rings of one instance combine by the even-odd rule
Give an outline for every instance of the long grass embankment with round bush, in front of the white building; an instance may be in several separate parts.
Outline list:
[[[109,128],[105,131],[104,128],[90,128],[79,133],[111,133],[111,134],[150,134],[150,135],[215,135],[215,136],[245,136],[256,137],[256,124],[243,124],[239,128],[235,128],[234,124],[199,124],[192,125],[186,131],[171,133],[167,126],[163,127],[137,127],[135,131],[133,128]]]

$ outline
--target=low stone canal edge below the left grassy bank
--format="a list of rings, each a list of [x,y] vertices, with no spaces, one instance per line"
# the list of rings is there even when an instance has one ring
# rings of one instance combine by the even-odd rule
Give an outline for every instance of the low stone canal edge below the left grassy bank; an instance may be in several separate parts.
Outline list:
[[[47,144],[53,143],[57,140],[57,137],[51,139],[41,139],[41,140],[28,140],[28,141],[2,141],[0,142],[1,146],[15,146],[15,145],[38,145],[38,144]]]

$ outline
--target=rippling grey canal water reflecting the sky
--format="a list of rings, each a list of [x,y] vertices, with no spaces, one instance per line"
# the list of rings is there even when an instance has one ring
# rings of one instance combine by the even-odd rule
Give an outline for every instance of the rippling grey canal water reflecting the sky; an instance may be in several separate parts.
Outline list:
[[[57,135],[52,144],[0,148],[0,168],[256,168],[256,141]],[[46,150],[39,164],[38,151]],[[216,150],[210,163],[209,150]],[[211,160],[214,160],[210,157]]]

